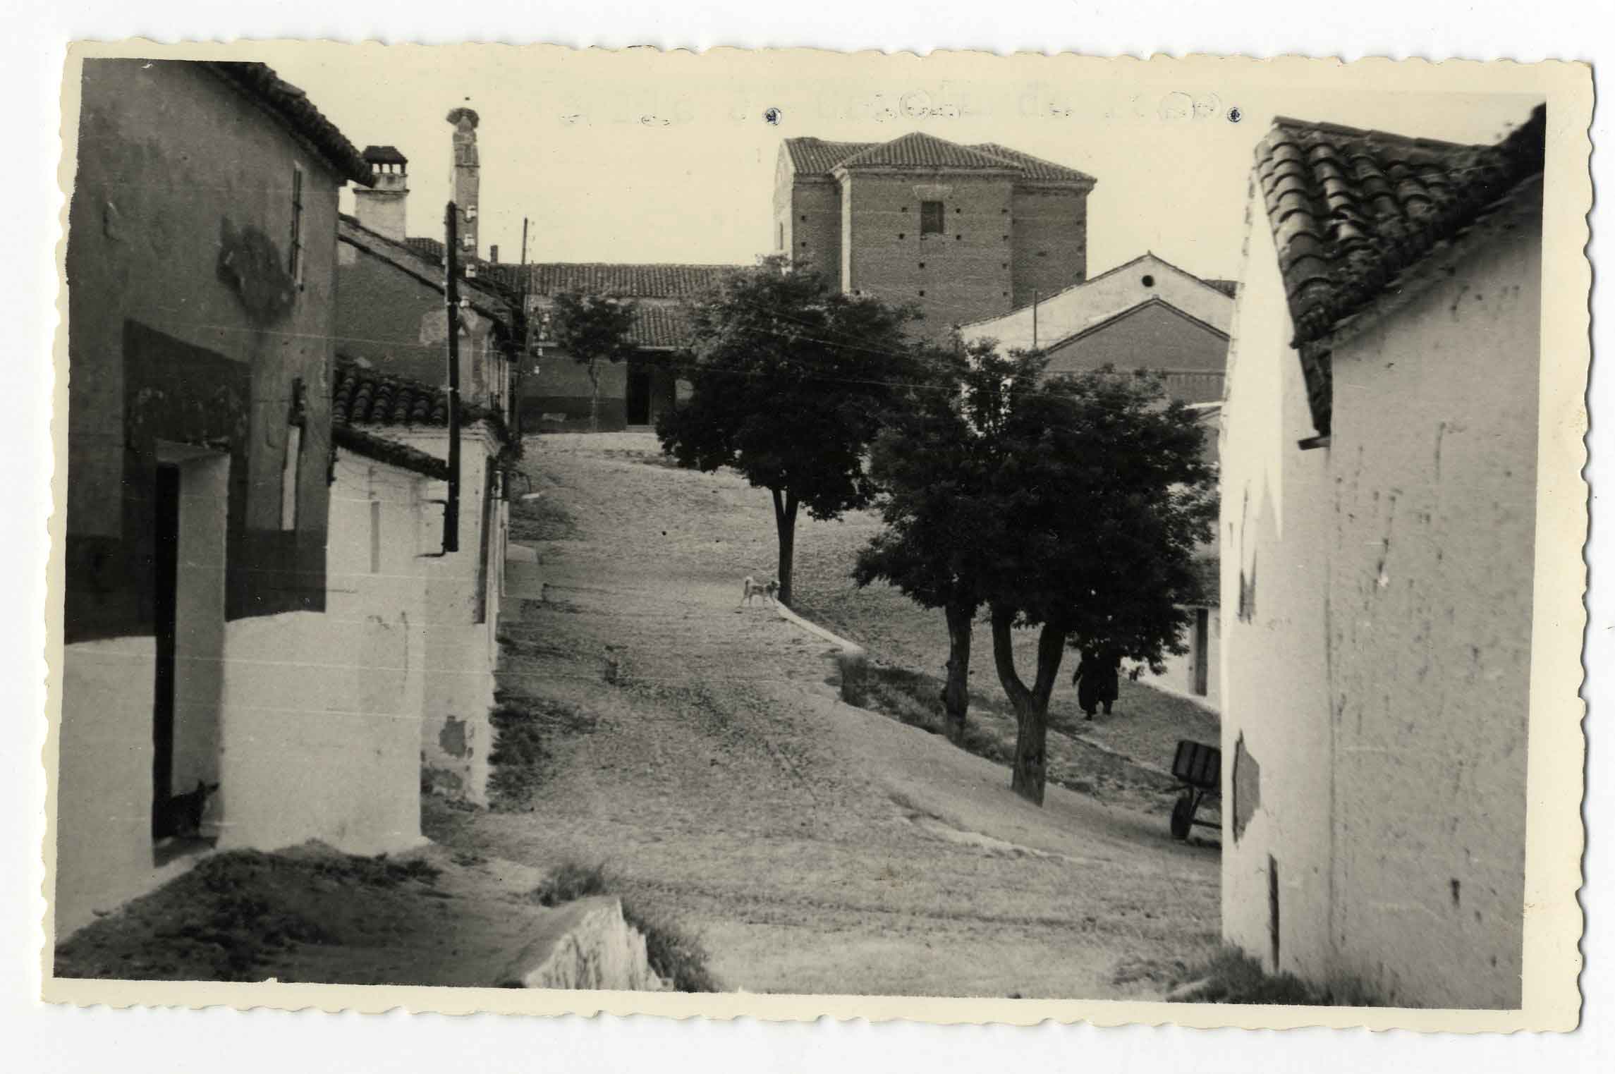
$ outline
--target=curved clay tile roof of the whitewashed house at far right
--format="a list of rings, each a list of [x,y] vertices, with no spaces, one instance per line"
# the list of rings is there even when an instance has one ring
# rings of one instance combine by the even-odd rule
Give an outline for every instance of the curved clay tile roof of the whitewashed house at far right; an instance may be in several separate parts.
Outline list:
[[[1541,174],[1546,118],[1537,107],[1497,145],[1274,120],[1256,145],[1256,182],[1295,344],[1328,336],[1399,273]]]

